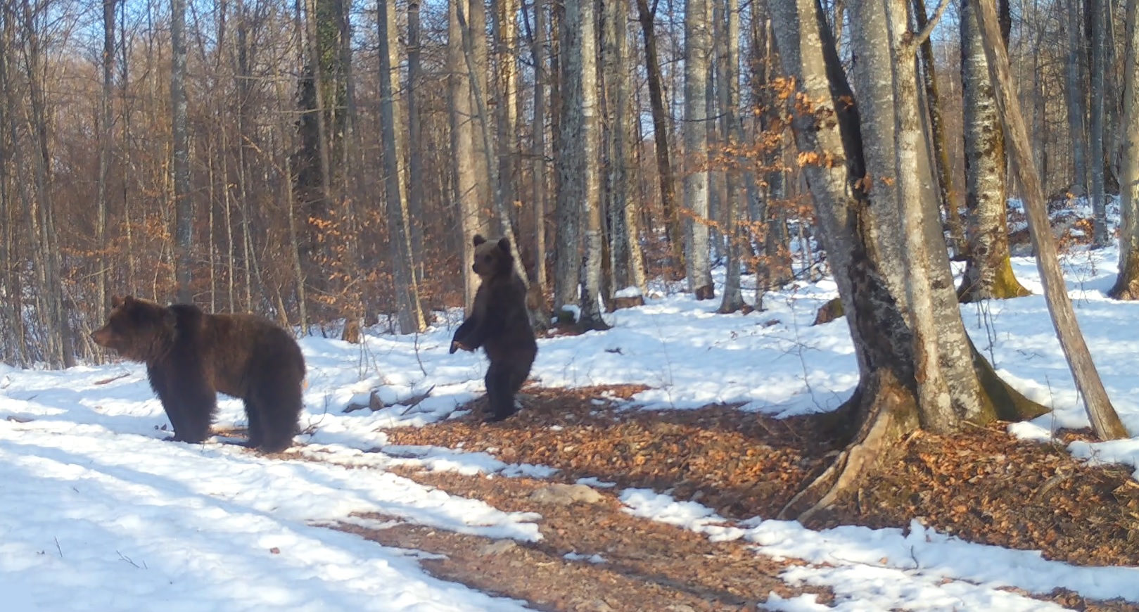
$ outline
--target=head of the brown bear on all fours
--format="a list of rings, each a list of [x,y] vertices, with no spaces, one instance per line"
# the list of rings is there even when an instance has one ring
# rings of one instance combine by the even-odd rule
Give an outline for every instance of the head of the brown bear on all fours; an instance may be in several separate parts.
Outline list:
[[[177,317],[169,308],[137,297],[110,299],[113,307],[103,327],[91,332],[91,340],[131,361],[162,357],[174,337]]]

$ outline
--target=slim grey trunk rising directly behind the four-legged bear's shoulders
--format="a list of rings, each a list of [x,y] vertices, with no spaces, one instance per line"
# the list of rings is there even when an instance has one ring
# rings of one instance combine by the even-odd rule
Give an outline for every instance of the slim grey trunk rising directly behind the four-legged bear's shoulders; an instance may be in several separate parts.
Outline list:
[[[172,155],[174,185],[174,276],[178,301],[194,302],[190,287],[194,243],[194,198],[190,196],[190,139],[186,107],[186,0],[171,0],[170,107],[173,127]]]

